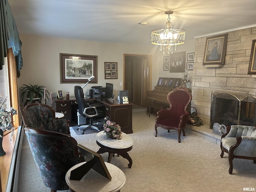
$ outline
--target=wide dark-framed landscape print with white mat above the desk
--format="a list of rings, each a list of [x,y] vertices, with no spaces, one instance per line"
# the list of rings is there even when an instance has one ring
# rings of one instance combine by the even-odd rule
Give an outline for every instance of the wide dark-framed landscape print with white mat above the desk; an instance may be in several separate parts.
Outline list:
[[[60,53],[60,83],[97,83],[98,56]]]

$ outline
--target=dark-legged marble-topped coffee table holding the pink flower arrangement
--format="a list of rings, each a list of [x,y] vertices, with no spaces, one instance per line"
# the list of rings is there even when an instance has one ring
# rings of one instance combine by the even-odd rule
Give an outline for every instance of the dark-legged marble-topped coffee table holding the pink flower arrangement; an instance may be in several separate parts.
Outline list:
[[[106,153],[108,152],[108,162],[110,163],[112,156],[114,154],[118,154],[118,156],[122,156],[129,161],[128,167],[132,167],[132,158],[130,158],[128,151],[132,150],[133,140],[132,138],[126,134],[122,133],[122,139],[110,139],[107,138],[106,133],[104,131],[100,131],[96,135],[96,143],[100,146],[100,149],[97,153]]]

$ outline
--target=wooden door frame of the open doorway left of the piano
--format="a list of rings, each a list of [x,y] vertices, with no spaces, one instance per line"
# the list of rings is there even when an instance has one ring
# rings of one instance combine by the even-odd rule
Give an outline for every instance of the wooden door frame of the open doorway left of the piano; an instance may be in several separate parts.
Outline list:
[[[123,54],[123,90],[125,85],[125,56],[134,56],[134,57],[146,57],[148,58],[148,65],[144,70],[142,71],[143,78],[143,89],[142,92],[142,106],[146,106],[146,98],[147,98],[147,92],[151,90],[151,82],[152,82],[152,55],[144,55],[144,54]]]

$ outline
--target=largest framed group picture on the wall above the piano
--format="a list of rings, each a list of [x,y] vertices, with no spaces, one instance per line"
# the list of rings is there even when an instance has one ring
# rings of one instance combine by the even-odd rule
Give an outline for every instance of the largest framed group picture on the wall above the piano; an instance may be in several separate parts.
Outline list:
[[[186,51],[170,54],[170,73],[184,73],[186,68]]]

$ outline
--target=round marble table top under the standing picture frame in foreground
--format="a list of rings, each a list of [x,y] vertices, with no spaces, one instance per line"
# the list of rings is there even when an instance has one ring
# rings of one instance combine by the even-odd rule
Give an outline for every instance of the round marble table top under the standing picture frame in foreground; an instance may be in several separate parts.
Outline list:
[[[108,180],[93,169],[90,169],[80,181],[70,180],[71,170],[84,163],[85,162],[82,162],[73,166],[66,174],[66,182],[75,192],[118,192],[124,186],[126,182],[124,172],[122,172],[118,167],[107,162],[105,162],[105,164],[108,172],[110,173],[111,180]]]

